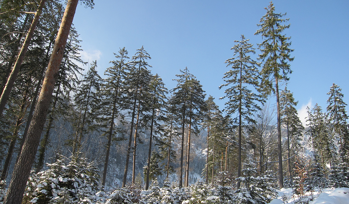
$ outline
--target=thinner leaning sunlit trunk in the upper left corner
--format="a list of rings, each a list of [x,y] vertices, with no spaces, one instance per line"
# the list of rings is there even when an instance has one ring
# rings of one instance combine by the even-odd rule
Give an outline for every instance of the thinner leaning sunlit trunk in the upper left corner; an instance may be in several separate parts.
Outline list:
[[[22,62],[24,60],[25,53],[27,53],[28,46],[30,44],[30,40],[33,37],[36,25],[39,21],[40,14],[42,11],[42,8],[44,7],[46,0],[41,0],[40,6],[38,10],[36,11],[36,14],[34,16],[33,22],[31,23],[31,26],[29,28],[27,37],[25,38],[21,51],[18,54],[17,60],[15,62],[15,65],[13,66],[12,72],[10,73],[10,76],[8,77],[7,83],[5,87],[3,88],[3,92],[0,97],[0,117],[2,117],[2,111],[5,109],[5,105],[7,103],[7,100],[10,96],[10,92],[12,90],[13,84],[15,83],[15,80],[17,78],[18,71],[21,68]]]

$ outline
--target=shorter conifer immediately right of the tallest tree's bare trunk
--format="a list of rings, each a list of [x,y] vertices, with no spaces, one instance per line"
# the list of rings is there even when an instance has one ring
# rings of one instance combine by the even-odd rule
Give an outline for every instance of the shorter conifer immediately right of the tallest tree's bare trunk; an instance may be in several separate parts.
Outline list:
[[[288,178],[291,179],[291,150],[295,150],[295,146],[299,146],[299,140],[302,136],[302,130],[304,129],[302,122],[300,121],[297,113],[298,101],[295,101],[293,93],[287,90],[287,87],[280,93],[280,114],[281,124],[286,127],[287,130],[287,174]],[[291,138],[291,145],[290,145]],[[297,145],[298,144],[298,145]],[[292,156],[295,151],[292,151]]]

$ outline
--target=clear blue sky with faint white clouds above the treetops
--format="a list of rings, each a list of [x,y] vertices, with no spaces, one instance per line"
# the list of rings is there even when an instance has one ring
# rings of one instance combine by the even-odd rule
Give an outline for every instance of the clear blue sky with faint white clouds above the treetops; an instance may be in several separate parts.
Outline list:
[[[79,5],[73,24],[80,34],[82,58],[97,60],[99,74],[111,66],[113,53],[125,47],[129,57],[144,46],[151,56],[152,73],[159,74],[166,87],[176,86],[175,75],[185,67],[200,80],[207,95],[215,102],[224,96],[218,86],[229,70],[225,60],[233,55],[231,47],[241,34],[250,43],[262,41],[254,36],[260,18],[265,15],[267,0],[95,0],[94,9]],[[326,110],[329,88],[342,88],[349,103],[349,1],[273,1],[276,13],[287,13],[291,48],[288,89],[299,101],[297,109],[318,103]],[[257,58],[257,56],[252,56]],[[285,85],[285,84],[284,84]],[[283,87],[281,87],[283,89]],[[274,104],[275,98],[271,99]],[[301,116],[302,117],[302,116]]]

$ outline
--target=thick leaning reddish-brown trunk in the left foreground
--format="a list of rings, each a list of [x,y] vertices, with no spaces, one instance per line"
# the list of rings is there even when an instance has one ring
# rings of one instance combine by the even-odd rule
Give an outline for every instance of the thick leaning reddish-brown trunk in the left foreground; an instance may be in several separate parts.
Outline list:
[[[4,198],[4,204],[21,204],[22,202],[25,185],[27,184],[31,166],[35,159],[40,135],[45,124],[47,111],[49,110],[54,84],[62,61],[70,27],[72,26],[77,3],[78,0],[68,0],[67,2],[67,7],[53,47],[36,110],[30,123],[22,153],[15,165],[13,176]]]

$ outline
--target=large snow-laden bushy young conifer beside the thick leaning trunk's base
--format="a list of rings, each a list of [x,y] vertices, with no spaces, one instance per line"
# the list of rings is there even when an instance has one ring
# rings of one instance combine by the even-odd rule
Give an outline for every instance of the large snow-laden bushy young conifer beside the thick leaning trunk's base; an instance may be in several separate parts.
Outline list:
[[[47,164],[46,171],[29,177],[24,200],[32,203],[91,203],[98,190],[96,162],[70,157]],[[67,164],[65,160],[69,160]]]

